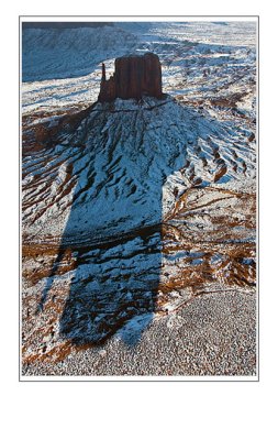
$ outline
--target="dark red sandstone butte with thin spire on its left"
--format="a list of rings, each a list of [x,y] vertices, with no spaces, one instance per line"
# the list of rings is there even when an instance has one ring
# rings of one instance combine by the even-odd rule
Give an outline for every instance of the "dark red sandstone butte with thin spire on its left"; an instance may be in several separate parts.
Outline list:
[[[107,79],[102,64],[99,101],[110,102],[115,98],[140,99],[143,96],[162,98],[162,65],[157,55],[131,55],[115,59],[115,72]]]

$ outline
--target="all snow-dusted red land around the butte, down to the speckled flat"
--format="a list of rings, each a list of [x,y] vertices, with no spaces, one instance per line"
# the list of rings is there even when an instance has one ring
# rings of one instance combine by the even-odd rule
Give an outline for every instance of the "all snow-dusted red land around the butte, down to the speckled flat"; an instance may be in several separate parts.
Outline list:
[[[147,51],[164,99],[93,103],[102,62]],[[22,77],[26,374],[115,332],[134,345],[201,295],[254,293],[254,22],[24,30]]]

